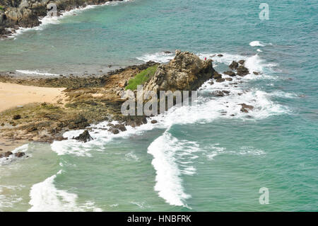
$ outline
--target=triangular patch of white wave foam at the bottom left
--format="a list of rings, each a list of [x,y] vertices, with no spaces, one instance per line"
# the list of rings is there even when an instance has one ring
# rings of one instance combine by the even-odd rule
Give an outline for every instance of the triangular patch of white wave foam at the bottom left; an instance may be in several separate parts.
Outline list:
[[[29,202],[32,207],[28,210],[29,212],[102,211],[100,208],[96,208],[92,201],[78,205],[76,194],[57,189],[54,186],[54,179],[61,173],[62,170],[32,186]]]

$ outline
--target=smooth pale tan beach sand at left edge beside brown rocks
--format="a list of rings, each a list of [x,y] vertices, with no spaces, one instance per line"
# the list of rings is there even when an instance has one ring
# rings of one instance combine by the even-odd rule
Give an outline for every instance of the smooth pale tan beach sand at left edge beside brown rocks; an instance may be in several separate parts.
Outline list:
[[[0,82],[0,112],[28,103],[57,103],[64,99],[63,90],[64,88],[23,86]],[[12,151],[27,142],[26,140],[4,140],[0,137],[0,153]]]

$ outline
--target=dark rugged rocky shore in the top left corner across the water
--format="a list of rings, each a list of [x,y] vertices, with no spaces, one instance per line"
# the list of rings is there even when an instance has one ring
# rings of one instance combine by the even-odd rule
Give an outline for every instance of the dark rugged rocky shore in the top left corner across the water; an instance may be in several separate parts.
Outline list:
[[[47,6],[51,3],[57,5],[59,16],[61,11],[70,11],[80,6],[105,4],[107,1],[112,0],[0,0],[0,37],[11,35],[19,27],[39,26],[40,18],[47,16],[47,11],[51,9]]]

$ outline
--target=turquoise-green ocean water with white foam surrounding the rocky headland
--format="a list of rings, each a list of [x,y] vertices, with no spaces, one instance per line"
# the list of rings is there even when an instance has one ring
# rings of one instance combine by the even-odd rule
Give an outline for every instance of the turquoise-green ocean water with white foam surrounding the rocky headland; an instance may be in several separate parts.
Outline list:
[[[28,159],[0,162],[0,210],[317,211],[318,4],[266,1],[261,21],[261,2],[115,2],[1,40],[2,72],[96,73],[167,62],[163,51],[180,49],[213,59],[218,72],[243,59],[262,74],[234,78],[237,87],[206,82],[196,107],[172,108],[155,125],[111,135],[100,123],[85,144],[19,147]]]

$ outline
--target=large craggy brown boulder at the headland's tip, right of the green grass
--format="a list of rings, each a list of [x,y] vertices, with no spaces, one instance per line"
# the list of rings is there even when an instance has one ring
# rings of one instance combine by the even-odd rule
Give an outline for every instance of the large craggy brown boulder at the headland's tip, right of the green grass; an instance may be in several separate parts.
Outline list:
[[[193,91],[212,78],[215,70],[212,60],[201,60],[190,52],[176,50],[168,64],[161,64],[154,76],[146,82],[144,91]]]

